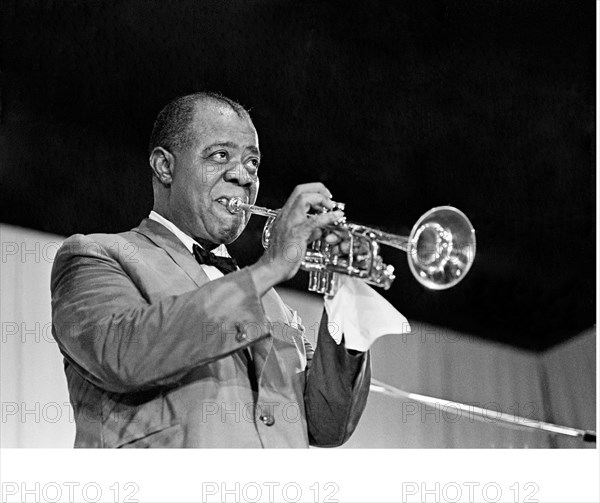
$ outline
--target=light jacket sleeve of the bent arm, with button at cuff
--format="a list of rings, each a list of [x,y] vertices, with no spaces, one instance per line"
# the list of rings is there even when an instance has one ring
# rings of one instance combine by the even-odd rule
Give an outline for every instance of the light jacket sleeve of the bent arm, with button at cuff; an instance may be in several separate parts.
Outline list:
[[[57,253],[51,291],[63,355],[108,391],[175,385],[194,367],[270,336],[248,270],[150,303],[119,257],[82,235]]]

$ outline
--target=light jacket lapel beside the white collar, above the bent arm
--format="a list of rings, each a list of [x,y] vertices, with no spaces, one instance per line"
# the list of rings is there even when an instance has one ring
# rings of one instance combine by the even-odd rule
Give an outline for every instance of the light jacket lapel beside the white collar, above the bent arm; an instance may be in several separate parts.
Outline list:
[[[162,248],[185,273],[201,286],[208,283],[209,279],[202,267],[199,267],[194,256],[185,245],[164,225],[149,218],[142,220],[133,232],[142,234],[156,246]]]

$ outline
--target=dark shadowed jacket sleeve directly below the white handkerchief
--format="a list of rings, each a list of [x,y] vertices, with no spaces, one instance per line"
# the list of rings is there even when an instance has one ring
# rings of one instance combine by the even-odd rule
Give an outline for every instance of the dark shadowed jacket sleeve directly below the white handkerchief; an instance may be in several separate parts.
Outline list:
[[[336,344],[327,325],[327,312],[323,310],[314,354],[307,348],[304,404],[310,444],[337,447],[350,438],[365,409],[371,362],[368,351],[347,350],[343,338]]]

